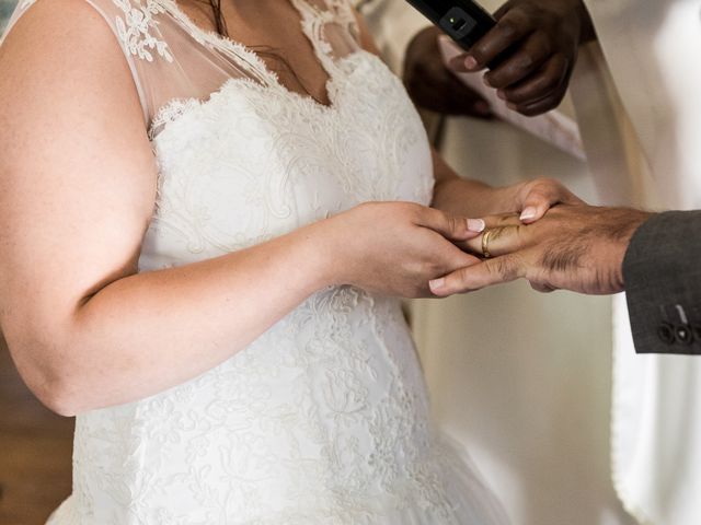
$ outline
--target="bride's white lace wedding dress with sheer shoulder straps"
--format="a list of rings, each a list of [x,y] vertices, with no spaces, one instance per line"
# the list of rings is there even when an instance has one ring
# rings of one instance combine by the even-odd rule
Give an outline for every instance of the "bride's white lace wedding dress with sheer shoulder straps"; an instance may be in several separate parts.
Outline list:
[[[422,122],[359,48],[347,2],[290,0],[330,75],[323,106],[171,0],[87,1],[124,50],[160,167],[140,271],[364,201],[430,201]],[[73,464],[53,525],[505,523],[432,429],[400,302],[350,287],[315,293],[199,377],[79,416]]]

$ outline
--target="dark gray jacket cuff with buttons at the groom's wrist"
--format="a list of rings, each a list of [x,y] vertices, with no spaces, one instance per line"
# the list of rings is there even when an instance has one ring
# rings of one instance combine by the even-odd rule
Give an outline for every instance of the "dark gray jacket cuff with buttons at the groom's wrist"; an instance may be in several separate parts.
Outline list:
[[[654,215],[623,261],[639,353],[701,354],[701,211]]]

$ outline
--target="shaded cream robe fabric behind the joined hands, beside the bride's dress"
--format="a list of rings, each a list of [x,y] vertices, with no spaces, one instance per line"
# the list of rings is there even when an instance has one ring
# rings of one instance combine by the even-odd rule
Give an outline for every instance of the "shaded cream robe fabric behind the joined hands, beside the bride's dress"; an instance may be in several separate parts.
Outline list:
[[[426,23],[401,0],[371,3],[371,26],[397,65]],[[549,175],[596,201],[583,163],[501,122],[449,119],[443,153],[464,176],[503,185]],[[515,524],[634,523],[610,480],[610,299],[541,295],[519,282],[413,311],[436,416]]]

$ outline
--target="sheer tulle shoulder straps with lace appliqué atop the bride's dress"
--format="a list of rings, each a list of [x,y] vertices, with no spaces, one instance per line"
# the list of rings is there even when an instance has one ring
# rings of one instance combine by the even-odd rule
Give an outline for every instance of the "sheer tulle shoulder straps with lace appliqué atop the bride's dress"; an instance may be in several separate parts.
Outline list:
[[[3,38],[36,2],[21,0]],[[106,22],[129,65],[151,137],[182,103],[206,101],[232,80],[279,86],[275,73],[252,49],[195,25],[173,0],[84,0]],[[354,9],[347,0],[291,0],[327,70],[359,48]],[[67,9],[55,2],[55,9]],[[0,39],[0,45],[2,39]],[[172,104],[174,101],[179,104]]]

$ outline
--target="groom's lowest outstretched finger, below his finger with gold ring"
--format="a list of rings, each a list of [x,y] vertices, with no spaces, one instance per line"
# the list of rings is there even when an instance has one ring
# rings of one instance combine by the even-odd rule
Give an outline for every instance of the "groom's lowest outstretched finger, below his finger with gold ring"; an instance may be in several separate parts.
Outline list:
[[[525,268],[520,258],[505,255],[468,268],[460,268],[446,277],[434,279],[428,285],[434,295],[447,298],[456,293],[472,292],[493,284],[514,281],[524,275]]]

